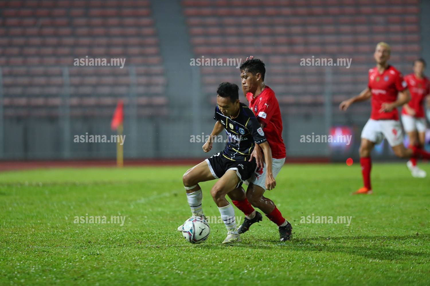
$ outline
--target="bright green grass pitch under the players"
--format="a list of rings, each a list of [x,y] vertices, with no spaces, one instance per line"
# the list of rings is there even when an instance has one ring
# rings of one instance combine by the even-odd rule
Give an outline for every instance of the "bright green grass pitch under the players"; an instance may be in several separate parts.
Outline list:
[[[0,285],[430,284],[430,179],[412,178],[404,163],[375,163],[366,196],[350,195],[362,186],[359,164],[286,165],[267,197],[292,223],[292,240],[279,242],[264,217],[234,246],[221,244],[222,223],[200,245],[176,231],[190,216],[187,168],[0,173]],[[212,184],[201,184],[203,211],[218,216]],[[87,214],[126,220],[74,223]],[[301,223],[308,215],[352,221]]]

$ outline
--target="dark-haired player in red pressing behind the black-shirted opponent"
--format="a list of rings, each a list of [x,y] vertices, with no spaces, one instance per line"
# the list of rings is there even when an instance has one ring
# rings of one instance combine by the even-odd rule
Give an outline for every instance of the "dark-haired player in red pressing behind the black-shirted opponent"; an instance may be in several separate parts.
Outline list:
[[[273,178],[276,178],[285,163],[286,156],[285,145],[282,140],[282,119],[278,100],[273,90],[264,84],[266,69],[261,60],[253,57],[246,58],[246,61],[240,65],[240,72],[243,94],[249,102],[249,108],[261,123],[267,142],[269,142],[272,150],[272,175]],[[253,223],[262,220],[261,214],[252,208],[254,206],[263,211],[269,220],[276,223],[279,230],[279,240],[286,241],[290,239],[292,226],[283,218],[276,205],[263,196],[266,190],[264,187],[266,172],[270,172],[270,170],[266,169],[261,149],[257,147],[254,148],[250,159],[256,159],[257,169],[255,174],[245,181],[245,184],[248,184],[246,193],[242,187],[228,193],[233,204],[245,214],[245,220],[239,227],[238,232],[244,233]]]

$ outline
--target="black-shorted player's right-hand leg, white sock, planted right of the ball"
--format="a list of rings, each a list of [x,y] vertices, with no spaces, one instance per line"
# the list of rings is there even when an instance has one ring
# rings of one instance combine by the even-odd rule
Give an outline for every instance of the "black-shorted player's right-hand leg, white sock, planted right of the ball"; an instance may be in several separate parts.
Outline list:
[[[225,238],[225,240],[222,242],[223,244],[240,241],[240,235],[237,232],[236,217],[234,216],[233,206],[230,205],[230,203],[225,199],[225,195],[237,188],[240,183],[241,180],[237,175],[237,171],[229,169],[211,189],[212,198],[215,204],[218,206],[221,219],[227,228],[227,238]]]

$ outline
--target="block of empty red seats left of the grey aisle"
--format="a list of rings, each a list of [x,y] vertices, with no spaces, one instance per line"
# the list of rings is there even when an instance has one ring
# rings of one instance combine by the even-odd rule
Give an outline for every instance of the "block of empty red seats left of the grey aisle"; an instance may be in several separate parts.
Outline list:
[[[4,114],[57,116],[64,93],[71,115],[111,114],[133,84],[138,114],[166,114],[158,42],[149,0],[1,1]],[[126,61],[123,69],[74,66],[86,56]]]

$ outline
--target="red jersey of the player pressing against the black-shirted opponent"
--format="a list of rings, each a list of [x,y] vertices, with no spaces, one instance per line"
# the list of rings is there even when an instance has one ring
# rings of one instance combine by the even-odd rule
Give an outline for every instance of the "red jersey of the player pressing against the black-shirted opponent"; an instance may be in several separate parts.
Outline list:
[[[285,158],[281,111],[275,93],[266,85],[264,90],[255,98],[252,93],[246,93],[246,99],[248,99],[248,106],[254,112],[255,117],[265,125],[263,131],[270,149],[272,149],[272,157],[275,159]]]

